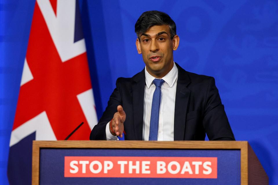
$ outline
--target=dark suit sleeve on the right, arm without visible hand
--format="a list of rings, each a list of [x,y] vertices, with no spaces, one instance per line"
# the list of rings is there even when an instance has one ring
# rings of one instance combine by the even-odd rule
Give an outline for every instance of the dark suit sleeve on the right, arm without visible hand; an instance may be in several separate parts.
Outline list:
[[[235,140],[214,78],[207,87],[203,125],[209,140]]]

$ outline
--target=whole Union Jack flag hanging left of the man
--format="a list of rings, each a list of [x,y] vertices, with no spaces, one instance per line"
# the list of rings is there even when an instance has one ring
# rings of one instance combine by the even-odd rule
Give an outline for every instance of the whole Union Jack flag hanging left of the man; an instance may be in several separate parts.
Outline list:
[[[97,123],[76,0],[36,0],[14,125],[8,179],[31,184],[32,140],[88,140]]]

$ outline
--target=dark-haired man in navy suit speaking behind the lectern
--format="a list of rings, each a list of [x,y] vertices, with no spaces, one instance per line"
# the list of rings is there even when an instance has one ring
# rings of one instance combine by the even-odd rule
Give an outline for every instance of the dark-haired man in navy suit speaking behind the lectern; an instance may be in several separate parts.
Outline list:
[[[146,64],[118,78],[90,139],[235,140],[213,77],[186,72],[173,60],[179,46],[175,22],[159,11],[135,24],[136,47]],[[117,137],[118,136],[118,137]]]

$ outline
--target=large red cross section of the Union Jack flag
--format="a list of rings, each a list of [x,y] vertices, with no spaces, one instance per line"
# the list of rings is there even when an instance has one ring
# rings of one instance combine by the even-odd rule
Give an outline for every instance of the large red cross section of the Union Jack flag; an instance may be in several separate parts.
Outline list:
[[[92,88],[87,55],[61,61],[37,3],[26,59],[34,79],[20,88],[13,130],[46,111],[58,140],[81,122],[85,124],[70,139],[89,139],[90,128],[76,97]]]

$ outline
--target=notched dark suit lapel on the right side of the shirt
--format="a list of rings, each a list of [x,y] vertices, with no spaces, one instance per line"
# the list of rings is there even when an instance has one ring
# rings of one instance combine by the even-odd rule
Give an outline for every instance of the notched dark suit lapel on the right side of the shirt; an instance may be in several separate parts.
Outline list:
[[[190,90],[187,85],[190,83],[190,79],[186,71],[177,63],[176,65],[178,67],[178,81],[175,99],[174,140],[184,140],[186,112],[190,97]]]

